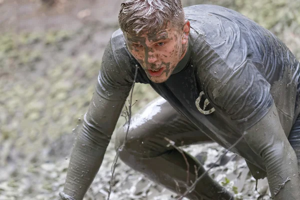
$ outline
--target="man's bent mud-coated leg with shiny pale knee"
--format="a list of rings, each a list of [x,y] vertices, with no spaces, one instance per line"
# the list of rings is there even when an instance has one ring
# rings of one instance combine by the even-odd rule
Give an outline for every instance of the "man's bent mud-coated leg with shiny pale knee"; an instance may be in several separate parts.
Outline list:
[[[127,125],[116,132],[116,149],[125,140],[126,128]],[[119,152],[119,156],[123,162],[152,181],[182,194],[186,190],[185,185],[190,185],[196,179],[196,174],[201,175],[205,169],[188,153],[183,152],[183,156],[172,145],[168,145],[165,137],[174,141],[176,146],[211,141],[168,102],[158,98],[132,117],[125,147]],[[186,197],[193,200],[233,199],[232,194],[208,174],[203,176]]]

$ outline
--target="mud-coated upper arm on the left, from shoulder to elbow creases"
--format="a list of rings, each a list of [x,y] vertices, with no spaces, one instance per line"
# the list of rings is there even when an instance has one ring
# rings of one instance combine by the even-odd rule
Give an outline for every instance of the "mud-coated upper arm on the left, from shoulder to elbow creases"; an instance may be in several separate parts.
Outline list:
[[[117,34],[115,32],[114,34]],[[92,122],[99,133],[110,136],[134,79],[135,67],[122,42],[121,34],[108,42],[101,62],[94,96],[101,102],[90,102],[85,122]],[[98,104],[98,106],[95,106]]]

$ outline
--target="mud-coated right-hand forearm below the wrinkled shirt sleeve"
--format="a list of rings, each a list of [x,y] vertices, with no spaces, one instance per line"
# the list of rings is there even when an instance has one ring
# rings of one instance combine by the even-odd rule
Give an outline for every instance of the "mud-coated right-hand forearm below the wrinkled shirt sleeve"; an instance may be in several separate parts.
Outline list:
[[[272,197],[299,199],[297,157],[281,127],[275,105],[246,132],[244,139],[265,162]]]

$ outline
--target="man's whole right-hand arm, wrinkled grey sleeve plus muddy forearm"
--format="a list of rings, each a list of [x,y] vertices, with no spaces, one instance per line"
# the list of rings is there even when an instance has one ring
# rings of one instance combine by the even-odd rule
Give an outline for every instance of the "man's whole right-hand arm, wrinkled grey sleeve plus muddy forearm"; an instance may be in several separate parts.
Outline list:
[[[229,67],[214,50],[209,55],[197,61],[210,103],[228,125],[247,132],[246,142],[265,162],[274,199],[300,199],[297,158],[281,127],[271,86],[257,69],[259,63],[242,60]]]

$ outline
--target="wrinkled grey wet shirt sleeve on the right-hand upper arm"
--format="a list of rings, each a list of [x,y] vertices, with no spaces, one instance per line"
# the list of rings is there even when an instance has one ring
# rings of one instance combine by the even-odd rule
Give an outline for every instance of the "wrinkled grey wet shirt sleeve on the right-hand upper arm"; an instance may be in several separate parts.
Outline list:
[[[204,92],[226,120],[243,131],[259,121],[273,99],[270,84],[257,69],[261,63],[244,59],[234,69],[210,48],[197,62],[197,74]]]

